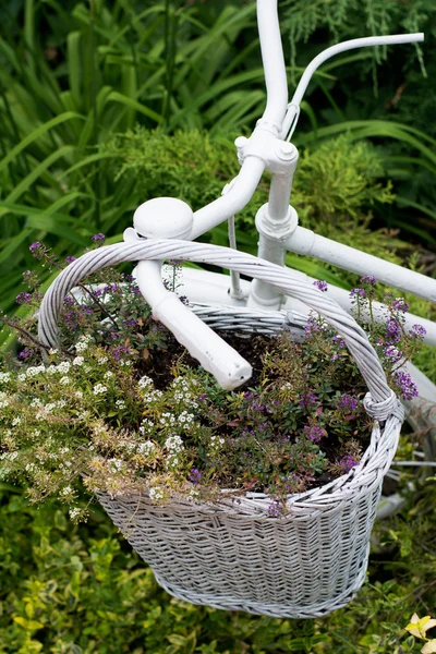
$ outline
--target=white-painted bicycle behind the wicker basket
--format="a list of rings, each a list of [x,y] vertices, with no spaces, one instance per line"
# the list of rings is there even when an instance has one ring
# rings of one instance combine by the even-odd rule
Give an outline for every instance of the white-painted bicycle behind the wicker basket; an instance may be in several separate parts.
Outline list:
[[[299,153],[290,140],[296,128],[300,105],[313,73],[327,59],[346,50],[411,44],[422,41],[424,35],[374,36],[332,46],[308,64],[289,102],[277,0],[257,0],[257,22],[267,105],[250,138],[240,136],[235,140],[241,165],[238,177],[225,186],[220,198],[195,213],[177,198],[150,199],[136,209],[133,228],[124,231],[126,244],[142,239],[153,239],[157,243],[159,261],[142,261],[137,264],[135,272],[140,289],[152,306],[154,316],[162,322],[203,367],[211,372],[227,388],[234,388],[246,380],[250,376],[250,364],[228,346],[214,328],[250,330],[255,324],[258,331],[261,324],[262,331],[271,332],[280,325],[287,325],[289,329],[301,334],[308,314],[308,308],[303,302],[284,296],[277,286],[262,279],[243,280],[238,271],[234,215],[250,202],[265,171],[271,173],[269,197],[258,209],[255,220],[259,234],[257,256],[261,259],[284,266],[287,252],[306,254],[358,275],[371,271],[378,281],[389,287],[414,293],[427,301],[436,301],[435,279],[300,227],[296,211],[290,206],[292,181],[299,159]],[[174,293],[167,291],[162,283],[162,259],[168,256],[167,253],[173,258],[183,259],[190,241],[223,221],[228,221],[229,244],[234,251],[234,261],[231,254],[227,254],[227,261],[221,254],[219,263],[223,267],[228,264],[231,275],[229,277],[184,268],[179,290],[190,299],[190,306],[186,307]],[[204,245],[205,262],[211,263],[213,251],[214,246]],[[165,257],[162,252],[166,253]],[[121,245],[113,257],[113,263],[123,261]],[[198,249],[195,261],[202,261],[202,256],[198,258]],[[314,281],[300,271],[292,272],[295,278],[311,283]],[[352,304],[348,291],[329,284],[326,294],[351,313]],[[383,322],[385,315],[386,310],[382,304],[374,306],[376,320]],[[405,314],[405,327],[411,328],[416,323],[425,327],[424,341],[436,346],[436,324]],[[426,428],[427,437],[424,451],[416,452],[417,461],[400,461],[395,462],[395,465],[411,465],[417,470],[421,465],[436,465],[435,432],[431,429],[431,425],[436,424],[436,386],[413,364],[408,363],[407,367],[419,388],[419,399],[408,402],[409,420],[414,427]],[[397,479],[399,474],[396,468],[390,471],[392,479]],[[397,494],[385,498],[379,508],[379,516],[390,514],[401,502],[402,498]]]

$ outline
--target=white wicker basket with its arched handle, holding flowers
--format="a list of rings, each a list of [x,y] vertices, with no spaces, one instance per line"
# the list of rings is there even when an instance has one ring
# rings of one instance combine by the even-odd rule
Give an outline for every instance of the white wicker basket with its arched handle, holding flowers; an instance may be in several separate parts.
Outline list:
[[[166,258],[207,262],[257,277],[322,314],[347,342],[368,386],[365,408],[375,419],[371,444],[348,474],[290,496],[284,518],[269,517],[271,500],[261,494],[237,498],[223,494],[214,505],[186,500],[157,506],[146,495],[101,493],[101,505],[160,585],[177,597],[291,618],[323,616],[344,606],[365,579],[371,530],[403,410],[365,332],[339,305],[287,269],[256,257],[203,243],[147,240],[101,247],[71,264],[45,296],[40,340],[56,347],[63,298],[86,275],[124,261]],[[210,314],[215,316],[216,310]],[[234,317],[234,307],[222,317],[227,328],[229,320],[241,327],[242,315]],[[252,312],[247,318],[253,319]],[[265,330],[267,316],[258,314],[253,327]]]

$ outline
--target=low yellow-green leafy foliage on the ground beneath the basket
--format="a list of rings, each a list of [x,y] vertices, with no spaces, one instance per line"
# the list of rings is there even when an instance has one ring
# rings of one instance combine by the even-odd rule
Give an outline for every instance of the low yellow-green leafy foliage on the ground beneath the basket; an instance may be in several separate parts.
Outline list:
[[[74,526],[53,501],[36,509],[4,488],[0,498],[4,654],[417,654],[422,641],[404,628],[413,613],[436,611],[434,482],[376,523],[368,583],[347,608],[316,620],[171,598],[97,506],[86,526]]]

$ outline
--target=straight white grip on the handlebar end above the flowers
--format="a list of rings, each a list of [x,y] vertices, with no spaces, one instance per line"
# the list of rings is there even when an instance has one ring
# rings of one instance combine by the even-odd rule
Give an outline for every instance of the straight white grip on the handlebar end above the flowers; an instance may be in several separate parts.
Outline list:
[[[177,295],[168,293],[159,300],[153,306],[153,315],[172,331],[222,388],[237,388],[252,376],[250,363],[182,304]]]

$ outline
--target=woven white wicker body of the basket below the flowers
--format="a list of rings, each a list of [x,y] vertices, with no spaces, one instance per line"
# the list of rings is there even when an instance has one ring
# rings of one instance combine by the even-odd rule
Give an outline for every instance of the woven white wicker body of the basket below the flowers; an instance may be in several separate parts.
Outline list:
[[[247,518],[146,497],[99,500],[172,595],[228,610],[313,618],[365,578],[379,487],[304,518]]]

